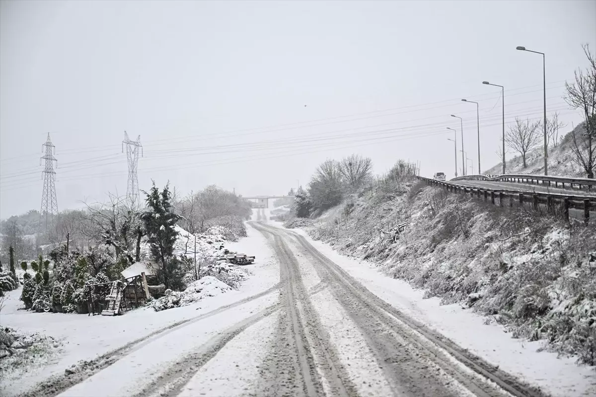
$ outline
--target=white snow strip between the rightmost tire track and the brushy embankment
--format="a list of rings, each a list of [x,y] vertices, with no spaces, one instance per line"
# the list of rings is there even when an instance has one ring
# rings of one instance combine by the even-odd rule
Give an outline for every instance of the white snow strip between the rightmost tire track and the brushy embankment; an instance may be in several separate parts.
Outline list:
[[[578,366],[575,358],[558,358],[556,353],[538,351],[540,341],[513,339],[504,332],[504,327],[487,325],[482,316],[458,304],[441,305],[440,298],[425,299],[423,289],[414,289],[403,280],[385,276],[375,264],[339,254],[327,243],[312,240],[304,230],[293,231],[305,236],[316,249],[379,298],[491,364],[499,365],[502,370],[541,387],[553,396],[596,395],[595,367]]]

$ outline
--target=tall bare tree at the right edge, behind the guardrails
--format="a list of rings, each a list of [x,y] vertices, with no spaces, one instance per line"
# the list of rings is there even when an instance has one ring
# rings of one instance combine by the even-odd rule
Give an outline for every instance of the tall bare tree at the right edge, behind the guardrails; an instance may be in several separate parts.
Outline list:
[[[565,101],[570,107],[582,111],[585,132],[572,132],[572,150],[579,167],[583,168],[588,178],[593,179],[596,168],[596,57],[592,57],[587,44],[582,45],[582,48],[589,65],[586,70],[575,71],[575,83],[565,83]]]

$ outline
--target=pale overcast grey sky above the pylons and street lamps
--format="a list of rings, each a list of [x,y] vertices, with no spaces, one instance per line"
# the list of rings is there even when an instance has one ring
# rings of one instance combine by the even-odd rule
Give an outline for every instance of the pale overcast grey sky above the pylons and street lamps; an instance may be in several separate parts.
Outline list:
[[[126,193],[125,130],[141,189],[282,194],[352,152],[451,177],[452,113],[477,171],[468,98],[488,169],[501,101],[482,81],[505,121],[540,118],[542,57],[515,48],[545,52],[547,109],[577,124],[561,96],[582,43],[596,1],[1,1],[0,218],[39,210],[48,132],[60,210]]]

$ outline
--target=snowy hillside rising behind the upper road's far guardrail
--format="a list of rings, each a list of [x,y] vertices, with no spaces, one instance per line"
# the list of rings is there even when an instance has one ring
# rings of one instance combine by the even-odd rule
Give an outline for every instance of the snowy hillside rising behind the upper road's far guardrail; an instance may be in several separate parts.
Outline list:
[[[548,148],[548,174],[552,176],[585,177],[586,174],[575,162],[572,152],[573,136],[585,131],[584,124],[579,124],[573,131],[563,137],[558,145]],[[526,155],[527,168],[523,167],[522,156],[506,161],[505,172],[508,174],[544,174],[544,145],[540,145]],[[484,174],[502,173],[502,163],[486,170]]]

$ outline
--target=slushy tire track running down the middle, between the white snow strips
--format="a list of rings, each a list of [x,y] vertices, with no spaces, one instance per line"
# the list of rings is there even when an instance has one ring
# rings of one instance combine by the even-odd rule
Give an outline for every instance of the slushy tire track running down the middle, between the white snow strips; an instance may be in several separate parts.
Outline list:
[[[283,284],[277,343],[261,371],[257,395],[318,396],[327,394],[326,391],[330,395],[357,395],[308,296],[325,285],[319,283],[307,292],[300,265],[283,238],[261,223],[251,222],[250,225],[272,238],[272,246],[281,262]]]

